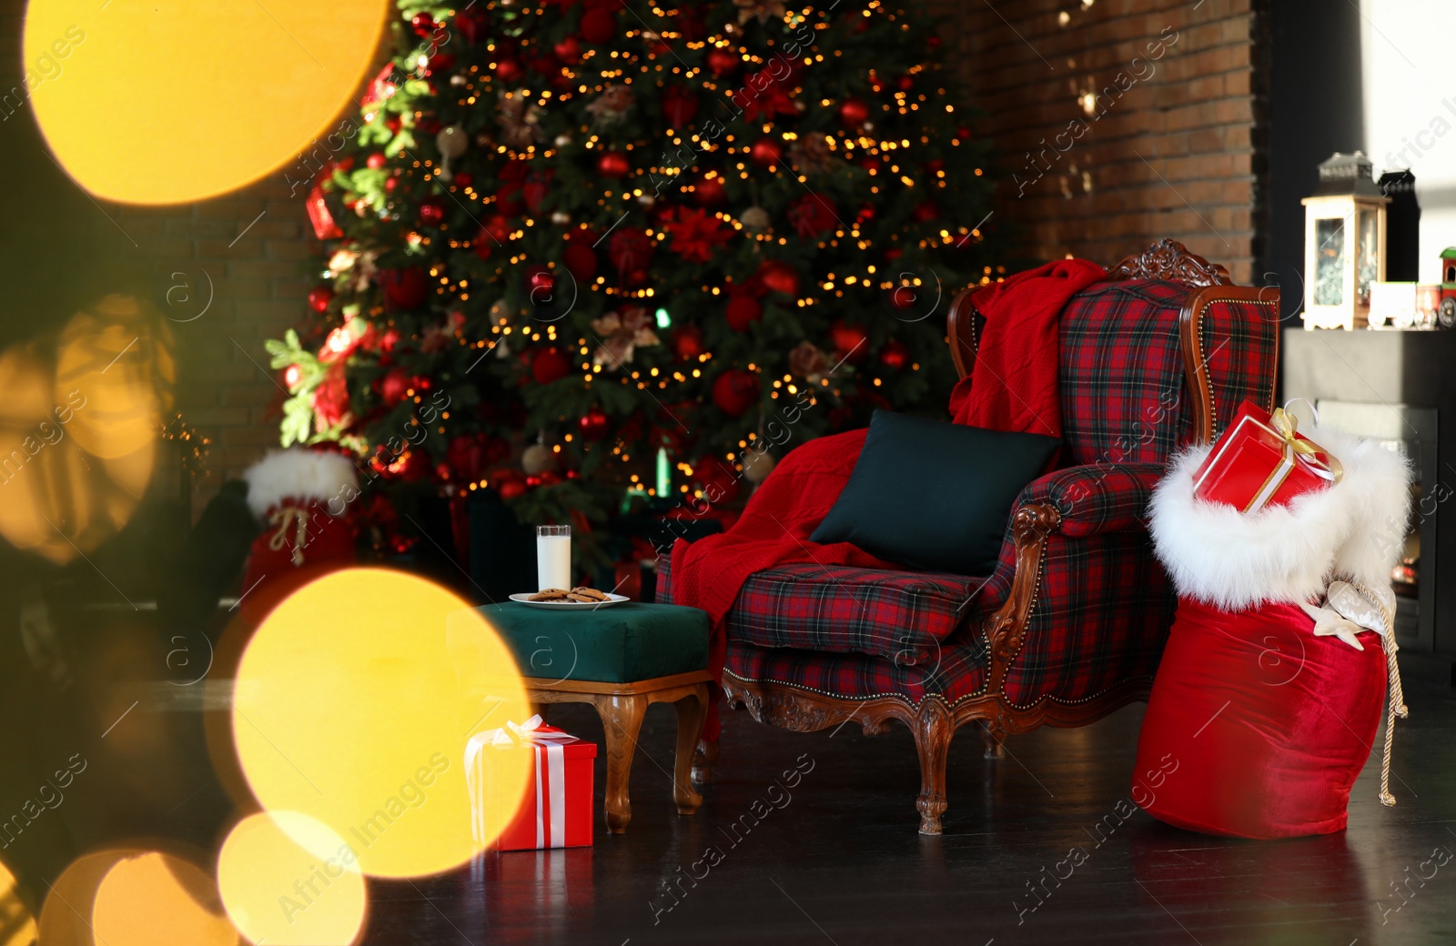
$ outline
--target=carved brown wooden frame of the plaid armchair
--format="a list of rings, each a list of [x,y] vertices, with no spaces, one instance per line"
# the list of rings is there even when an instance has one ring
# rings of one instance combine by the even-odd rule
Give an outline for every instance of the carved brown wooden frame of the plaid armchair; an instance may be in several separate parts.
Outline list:
[[[1224,301],[1271,304],[1277,313],[1278,291],[1233,285],[1227,269],[1210,263],[1175,240],[1160,240],[1144,253],[1128,256],[1112,266],[1108,271],[1108,281],[1118,279],[1165,279],[1190,287],[1179,314],[1185,389],[1192,406],[1195,442],[1213,441],[1217,435],[1217,413],[1204,352],[1204,316],[1213,304]],[[973,285],[962,290],[951,303],[948,317],[948,341],[961,377],[965,377],[976,362],[981,316],[971,304],[971,295],[978,288]],[[1277,332],[1274,335],[1277,345]],[[1270,396],[1273,397],[1273,384]],[[920,760],[920,795],[916,799],[920,832],[939,834],[941,815],[946,806],[946,757],[951,738],[960,726],[978,722],[986,741],[986,754],[994,758],[1002,755],[1002,741],[1009,734],[1029,732],[1041,725],[1086,725],[1134,700],[1146,700],[1152,690],[1149,680],[1127,680],[1080,703],[1038,700],[1032,706],[1021,707],[1003,699],[1006,672],[1021,651],[1035,607],[1045,543],[1060,525],[1061,514],[1051,504],[1025,504],[1013,514],[1016,568],[1005,604],[981,624],[981,633],[989,645],[989,665],[987,685],[980,696],[961,700],[954,709],[939,696],[927,696],[914,706],[909,699],[898,696],[843,699],[789,684],[747,681],[725,672],[722,687],[727,703],[747,707],[759,722],[798,732],[814,732],[855,720],[866,735],[875,735],[884,732],[893,719],[903,722],[914,734]]]

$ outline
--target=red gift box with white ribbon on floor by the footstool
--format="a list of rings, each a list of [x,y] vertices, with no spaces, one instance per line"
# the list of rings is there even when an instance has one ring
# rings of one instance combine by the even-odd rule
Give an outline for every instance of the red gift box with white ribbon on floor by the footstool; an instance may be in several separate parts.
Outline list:
[[[492,844],[495,850],[591,846],[594,742],[547,726],[540,716],[470,736],[464,748],[464,774],[470,792],[470,832],[478,843],[486,840],[488,821],[499,824],[498,818],[488,818],[486,814],[513,803],[513,799],[501,798],[489,776],[491,766],[485,757],[489,751],[531,752],[526,795],[515,816],[508,818],[505,830]]]

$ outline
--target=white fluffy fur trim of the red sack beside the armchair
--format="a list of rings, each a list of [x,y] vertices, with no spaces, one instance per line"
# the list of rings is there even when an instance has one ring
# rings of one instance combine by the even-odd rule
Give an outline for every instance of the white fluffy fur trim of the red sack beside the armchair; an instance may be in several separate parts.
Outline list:
[[[1316,600],[1331,578],[1390,582],[1409,517],[1405,457],[1331,428],[1302,431],[1344,466],[1338,483],[1245,515],[1194,499],[1211,445],[1178,456],[1153,490],[1153,547],[1178,594],[1226,611]]]

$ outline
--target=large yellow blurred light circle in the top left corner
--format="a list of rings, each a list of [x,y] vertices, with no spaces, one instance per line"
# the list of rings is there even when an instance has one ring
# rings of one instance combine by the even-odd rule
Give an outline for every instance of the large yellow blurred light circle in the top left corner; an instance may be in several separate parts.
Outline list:
[[[31,0],[25,84],[51,151],[96,196],[198,201],[285,164],[298,164],[291,178],[312,178],[319,162],[298,156],[336,150],[329,134],[344,134],[336,116],[389,7]]]

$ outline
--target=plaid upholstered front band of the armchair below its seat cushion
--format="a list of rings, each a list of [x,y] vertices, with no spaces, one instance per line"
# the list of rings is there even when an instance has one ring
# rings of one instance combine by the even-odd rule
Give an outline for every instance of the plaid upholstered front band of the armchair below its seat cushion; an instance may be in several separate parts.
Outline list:
[[[938,694],[955,706],[986,690],[986,637],[957,637],[935,648],[933,659],[913,665],[865,653],[760,648],[729,639],[725,672],[748,683],[788,684],[844,700],[893,696],[919,706]]]

